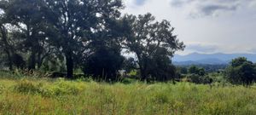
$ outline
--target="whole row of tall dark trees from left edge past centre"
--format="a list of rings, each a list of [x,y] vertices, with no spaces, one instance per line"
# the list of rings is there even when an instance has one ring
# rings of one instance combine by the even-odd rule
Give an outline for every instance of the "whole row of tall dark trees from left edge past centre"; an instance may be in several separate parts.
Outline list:
[[[0,60],[9,70],[67,72],[67,78],[78,68],[111,81],[122,68],[138,70],[143,81],[174,78],[170,59],[184,44],[170,21],[121,9],[121,0],[0,0]]]

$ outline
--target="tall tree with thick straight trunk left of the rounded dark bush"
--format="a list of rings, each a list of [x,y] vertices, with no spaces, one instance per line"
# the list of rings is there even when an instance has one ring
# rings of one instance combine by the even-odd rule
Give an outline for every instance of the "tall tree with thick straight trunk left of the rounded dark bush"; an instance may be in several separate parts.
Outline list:
[[[120,0],[44,0],[49,9],[51,24],[59,37],[55,46],[66,57],[67,78],[73,77],[76,58],[88,52],[93,33],[102,28],[105,16],[119,9]],[[104,25],[106,26],[106,25]],[[104,28],[103,28],[104,29]],[[86,54],[87,55],[87,54]]]

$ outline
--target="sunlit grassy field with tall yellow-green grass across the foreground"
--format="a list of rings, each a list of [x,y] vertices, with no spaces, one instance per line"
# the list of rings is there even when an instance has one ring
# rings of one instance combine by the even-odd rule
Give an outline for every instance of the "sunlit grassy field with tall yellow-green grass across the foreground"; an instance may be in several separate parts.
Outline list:
[[[96,83],[0,74],[0,114],[256,114],[256,89],[193,83]]]

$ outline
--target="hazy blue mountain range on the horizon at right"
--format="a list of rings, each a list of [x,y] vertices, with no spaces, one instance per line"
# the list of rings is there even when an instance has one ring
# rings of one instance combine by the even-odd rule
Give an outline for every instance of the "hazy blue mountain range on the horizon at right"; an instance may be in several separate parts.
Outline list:
[[[209,65],[220,65],[228,64],[230,60],[237,57],[247,57],[248,60],[256,62],[256,54],[199,54],[193,53],[189,55],[175,55],[172,59],[176,65],[198,65],[198,64],[209,64]]]

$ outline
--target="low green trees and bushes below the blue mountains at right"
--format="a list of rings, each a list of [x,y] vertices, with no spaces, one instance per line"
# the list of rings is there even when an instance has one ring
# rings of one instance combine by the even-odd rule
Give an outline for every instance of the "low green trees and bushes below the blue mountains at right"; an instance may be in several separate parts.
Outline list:
[[[192,83],[228,82],[249,86],[256,82],[256,64],[245,57],[231,60],[228,66],[220,66],[215,72],[207,72],[204,66],[182,66],[177,68],[177,73],[179,78]]]

